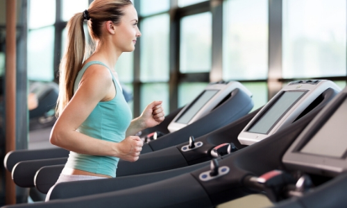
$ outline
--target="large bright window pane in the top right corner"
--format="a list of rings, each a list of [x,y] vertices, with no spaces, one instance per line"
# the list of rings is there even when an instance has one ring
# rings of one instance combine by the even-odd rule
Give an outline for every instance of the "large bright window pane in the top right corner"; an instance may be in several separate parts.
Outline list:
[[[346,1],[283,1],[283,78],[346,76]]]

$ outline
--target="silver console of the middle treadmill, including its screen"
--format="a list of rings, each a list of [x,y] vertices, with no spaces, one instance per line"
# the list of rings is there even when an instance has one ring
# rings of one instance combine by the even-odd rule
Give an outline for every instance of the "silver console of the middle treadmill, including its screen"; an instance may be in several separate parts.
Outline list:
[[[239,134],[239,141],[251,145],[296,121],[326,89],[341,89],[330,80],[299,80],[289,83],[264,105]]]

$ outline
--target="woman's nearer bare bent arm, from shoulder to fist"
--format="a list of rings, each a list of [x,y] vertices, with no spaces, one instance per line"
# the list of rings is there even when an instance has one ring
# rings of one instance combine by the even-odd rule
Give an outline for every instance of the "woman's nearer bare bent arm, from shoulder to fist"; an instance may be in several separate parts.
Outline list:
[[[95,139],[76,131],[99,101],[115,96],[112,87],[114,89],[112,76],[107,68],[97,64],[90,66],[85,71],[74,97],[53,126],[51,144],[76,153],[136,161],[143,145],[139,137],[126,137],[124,141],[115,143]]]

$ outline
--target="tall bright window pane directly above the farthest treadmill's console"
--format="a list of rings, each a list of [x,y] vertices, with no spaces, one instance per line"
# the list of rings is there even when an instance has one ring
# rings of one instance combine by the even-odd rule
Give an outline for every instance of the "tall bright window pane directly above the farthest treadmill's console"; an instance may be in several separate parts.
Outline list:
[[[223,8],[223,80],[266,79],[268,1],[229,0]]]

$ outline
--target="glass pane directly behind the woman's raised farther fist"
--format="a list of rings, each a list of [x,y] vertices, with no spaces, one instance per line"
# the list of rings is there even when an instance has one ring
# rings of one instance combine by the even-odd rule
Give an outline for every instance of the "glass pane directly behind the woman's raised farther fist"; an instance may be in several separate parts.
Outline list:
[[[166,83],[143,84],[140,93],[141,112],[149,103],[162,101],[165,114],[169,114],[169,85]]]

